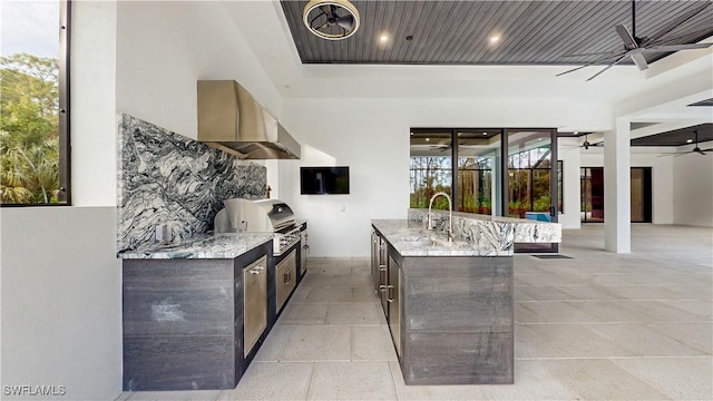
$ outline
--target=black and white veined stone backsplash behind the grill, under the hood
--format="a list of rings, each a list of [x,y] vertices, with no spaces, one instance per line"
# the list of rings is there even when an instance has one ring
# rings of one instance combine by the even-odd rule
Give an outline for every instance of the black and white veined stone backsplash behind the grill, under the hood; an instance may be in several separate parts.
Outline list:
[[[118,252],[154,242],[160,224],[179,243],[212,229],[224,199],[265,196],[264,166],[126,114],[118,133]]]

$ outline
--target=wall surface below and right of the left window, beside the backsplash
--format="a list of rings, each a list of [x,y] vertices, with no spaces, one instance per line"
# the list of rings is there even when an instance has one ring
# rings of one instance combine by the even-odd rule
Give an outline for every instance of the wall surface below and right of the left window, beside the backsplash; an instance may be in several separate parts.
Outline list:
[[[116,3],[72,2],[71,33],[72,200],[81,207],[0,211],[1,381],[110,400],[121,391]]]

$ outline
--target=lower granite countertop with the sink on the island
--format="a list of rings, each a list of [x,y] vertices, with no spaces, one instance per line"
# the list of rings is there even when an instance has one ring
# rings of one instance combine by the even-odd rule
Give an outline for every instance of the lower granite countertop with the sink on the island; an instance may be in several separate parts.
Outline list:
[[[371,224],[381,233],[401,256],[511,256],[512,250],[496,250],[472,241],[453,238],[409,219],[372,219]],[[433,245],[416,245],[414,241],[433,241]]]

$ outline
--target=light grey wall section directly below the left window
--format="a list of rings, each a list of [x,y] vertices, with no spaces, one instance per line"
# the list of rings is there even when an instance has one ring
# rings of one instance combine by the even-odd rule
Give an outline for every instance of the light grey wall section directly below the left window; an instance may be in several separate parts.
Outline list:
[[[121,270],[115,207],[2,209],[2,385],[121,391]],[[20,394],[21,395],[21,394]]]

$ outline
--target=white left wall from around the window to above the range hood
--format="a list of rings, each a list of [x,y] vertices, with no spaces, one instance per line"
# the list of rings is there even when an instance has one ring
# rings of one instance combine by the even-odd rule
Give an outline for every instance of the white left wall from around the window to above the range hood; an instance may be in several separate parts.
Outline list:
[[[276,117],[282,99],[218,2],[74,1],[71,33],[76,206],[0,211],[0,378],[113,400],[121,392],[117,113],[195,138],[198,79],[236,79]]]

